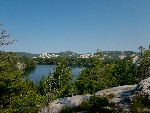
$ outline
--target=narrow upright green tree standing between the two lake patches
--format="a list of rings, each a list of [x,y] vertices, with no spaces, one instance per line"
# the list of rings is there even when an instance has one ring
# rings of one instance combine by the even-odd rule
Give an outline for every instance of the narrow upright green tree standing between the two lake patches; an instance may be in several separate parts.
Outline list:
[[[53,73],[53,85],[55,94],[58,97],[71,95],[71,83],[73,82],[72,69],[68,67],[68,61],[65,58],[60,59]]]

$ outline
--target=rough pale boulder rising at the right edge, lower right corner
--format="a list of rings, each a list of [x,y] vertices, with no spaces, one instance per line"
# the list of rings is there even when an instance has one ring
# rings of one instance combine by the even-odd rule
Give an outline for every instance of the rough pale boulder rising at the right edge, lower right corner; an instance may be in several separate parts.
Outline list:
[[[133,99],[138,95],[145,96],[150,100],[150,77],[142,80],[133,90],[128,90],[127,92],[130,92],[130,94],[127,95],[124,99],[121,99],[120,102],[116,103],[114,113],[119,113],[119,110],[124,113],[130,112]],[[122,94],[124,94],[124,92],[122,92]],[[150,113],[150,109],[143,109],[142,112]]]

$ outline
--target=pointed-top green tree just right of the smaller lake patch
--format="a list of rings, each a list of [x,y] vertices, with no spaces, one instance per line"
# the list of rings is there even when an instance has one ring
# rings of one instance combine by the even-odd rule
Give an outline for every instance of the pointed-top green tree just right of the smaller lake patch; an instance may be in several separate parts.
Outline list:
[[[102,52],[98,51],[93,57],[91,66],[83,69],[75,81],[79,94],[95,93],[108,88],[104,72],[104,59]]]

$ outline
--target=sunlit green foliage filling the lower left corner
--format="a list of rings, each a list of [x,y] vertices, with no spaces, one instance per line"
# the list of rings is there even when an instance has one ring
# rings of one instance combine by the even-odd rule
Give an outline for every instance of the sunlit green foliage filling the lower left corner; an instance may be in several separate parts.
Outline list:
[[[0,61],[0,112],[36,112],[44,97],[37,94],[33,81],[24,78],[14,56]]]

